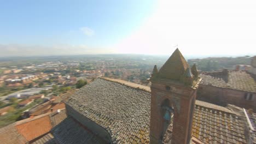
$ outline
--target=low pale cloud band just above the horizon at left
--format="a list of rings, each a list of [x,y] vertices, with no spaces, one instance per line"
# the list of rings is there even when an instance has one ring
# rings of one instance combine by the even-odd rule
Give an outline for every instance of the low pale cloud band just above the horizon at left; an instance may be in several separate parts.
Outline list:
[[[108,47],[92,47],[86,45],[55,44],[51,46],[0,44],[0,57],[7,56],[54,56],[114,53]]]

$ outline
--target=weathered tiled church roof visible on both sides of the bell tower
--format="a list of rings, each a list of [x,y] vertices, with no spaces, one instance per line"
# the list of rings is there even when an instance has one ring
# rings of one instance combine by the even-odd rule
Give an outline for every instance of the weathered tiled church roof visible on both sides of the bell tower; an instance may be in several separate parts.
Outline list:
[[[113,143],[149,143],[150,89],[129,85],[122,80],[96,79],[65,103],[105,128]],[[197,139],[246,143],[243,120],[232,110],[196,100],[194,112]]]

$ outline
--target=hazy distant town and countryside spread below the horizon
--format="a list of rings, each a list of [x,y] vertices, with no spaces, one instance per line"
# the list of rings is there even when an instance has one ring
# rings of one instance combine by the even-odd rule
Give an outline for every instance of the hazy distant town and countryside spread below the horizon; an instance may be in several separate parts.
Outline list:
[[[148,79],[154,65],[168,57],[144,55],[89,55],[60,57],[18,57],[0,59],[0,127],[20,119],[65,108],[63,99],[77,88],[97,79],[109,77],[150,86]],[[223,67],[251,67],[251,58],[222,57],[188,59],[201,71],[218,71]]]

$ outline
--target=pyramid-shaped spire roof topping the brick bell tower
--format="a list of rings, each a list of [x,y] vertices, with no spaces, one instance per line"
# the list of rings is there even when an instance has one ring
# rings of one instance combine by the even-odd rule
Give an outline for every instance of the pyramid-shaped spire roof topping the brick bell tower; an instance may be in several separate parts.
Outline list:
[[[189,68],[189,65],[177,48],[161,67],[158,76],[167,79],[180,80],[187,68]]]

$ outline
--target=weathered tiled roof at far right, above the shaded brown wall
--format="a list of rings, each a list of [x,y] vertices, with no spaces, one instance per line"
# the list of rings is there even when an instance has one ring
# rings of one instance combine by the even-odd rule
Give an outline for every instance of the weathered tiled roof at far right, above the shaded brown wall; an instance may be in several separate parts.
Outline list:
[[[211,85],[214,87],[256,93],[256,81],[246,71],[228,71],[227,75],[221,71],[204,72],[200,74],[200,77],[202,77],[201,85]]]

